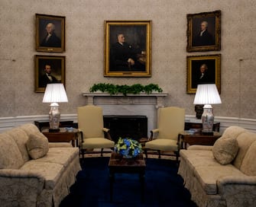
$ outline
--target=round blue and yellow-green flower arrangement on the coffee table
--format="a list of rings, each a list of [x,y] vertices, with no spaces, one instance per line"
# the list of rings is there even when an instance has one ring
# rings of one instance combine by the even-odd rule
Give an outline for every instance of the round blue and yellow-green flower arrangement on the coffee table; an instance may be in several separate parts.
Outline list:
[[[118,139],[118,143],[115,145],[114,151],[122,155],[124,158],[135,158],[141,153],[141,144],[131,138]]]

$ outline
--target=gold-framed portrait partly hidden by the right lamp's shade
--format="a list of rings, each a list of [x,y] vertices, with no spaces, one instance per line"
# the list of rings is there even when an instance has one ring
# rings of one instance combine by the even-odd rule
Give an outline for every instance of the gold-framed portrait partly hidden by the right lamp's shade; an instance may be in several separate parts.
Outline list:
[[[186,57],[186,92],[196,94],[198,84],[216,84],[221,92],[221,55]]]

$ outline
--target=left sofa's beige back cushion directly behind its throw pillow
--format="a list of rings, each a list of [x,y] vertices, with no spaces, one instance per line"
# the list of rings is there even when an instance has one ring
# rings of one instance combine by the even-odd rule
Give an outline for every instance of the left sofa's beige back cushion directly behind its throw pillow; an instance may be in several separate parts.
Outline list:
[[[11,138],[15,140],[19,150],[21,151],[24,163],[29,161],[30,158],[28,156],[28,151],[26,148],[26,142],[28,141],[27,133],[24,132],[24,130],[20,129],[19,127],[11,129],[6,133],[8,133],[8,135],[10,135]]]

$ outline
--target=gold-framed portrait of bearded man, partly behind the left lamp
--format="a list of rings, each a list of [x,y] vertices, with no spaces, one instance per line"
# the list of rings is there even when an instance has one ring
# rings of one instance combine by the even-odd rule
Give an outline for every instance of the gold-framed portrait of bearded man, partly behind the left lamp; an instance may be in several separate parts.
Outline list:
[[[43,93],[47,84],[65,85],[65,56],[35,56],[35,92]]]

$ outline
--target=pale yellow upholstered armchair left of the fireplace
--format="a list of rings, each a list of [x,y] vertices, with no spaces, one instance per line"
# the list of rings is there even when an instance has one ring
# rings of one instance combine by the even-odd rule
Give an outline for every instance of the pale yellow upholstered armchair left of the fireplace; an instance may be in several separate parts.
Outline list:
[[[111,140],[109,129],[103,127],[102,107],[87,105],[77,109],[78,128],[82,132],[82,140],[79,144],[83,155],[86,150],[101,148],[114,148],[115,142]]]

